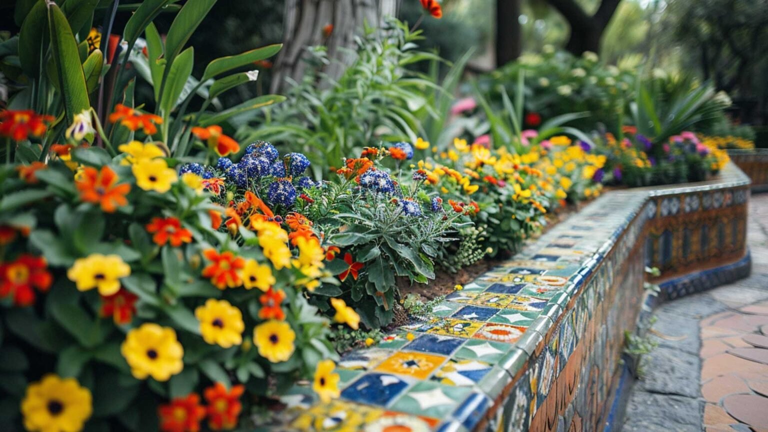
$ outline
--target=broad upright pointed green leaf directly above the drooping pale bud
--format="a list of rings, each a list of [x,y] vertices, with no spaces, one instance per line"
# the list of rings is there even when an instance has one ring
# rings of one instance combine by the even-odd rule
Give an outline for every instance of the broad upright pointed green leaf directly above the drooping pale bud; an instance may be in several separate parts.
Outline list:
[[[91,102],[88,100],[88,86],[85,85],[78,43],[67,18],[53,2],[48,4],[48,29],[67,122],[71,123],[74,115],[91,108]]]

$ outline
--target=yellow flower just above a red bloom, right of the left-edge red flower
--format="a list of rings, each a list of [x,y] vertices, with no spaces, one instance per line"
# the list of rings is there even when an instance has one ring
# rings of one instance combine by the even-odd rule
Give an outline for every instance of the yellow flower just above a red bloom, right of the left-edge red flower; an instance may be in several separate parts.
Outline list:
[[[98,288],[101,295],[112,295],[120,291],[121,277],[131,274],[131,267],[118,255],[90,254],[78,258],[67,271],[67,277],[73,281],[78,291]]]

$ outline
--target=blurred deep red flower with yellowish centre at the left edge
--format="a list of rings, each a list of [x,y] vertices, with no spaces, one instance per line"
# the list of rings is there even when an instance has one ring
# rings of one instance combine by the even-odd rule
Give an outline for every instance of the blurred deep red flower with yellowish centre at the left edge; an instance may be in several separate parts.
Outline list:
[[[48,291],[53,277],[48,273],[45,258],[22,254],[16,261],[0,263],[0,297],[13,296],[16,306],[35,302],[35,291]]]

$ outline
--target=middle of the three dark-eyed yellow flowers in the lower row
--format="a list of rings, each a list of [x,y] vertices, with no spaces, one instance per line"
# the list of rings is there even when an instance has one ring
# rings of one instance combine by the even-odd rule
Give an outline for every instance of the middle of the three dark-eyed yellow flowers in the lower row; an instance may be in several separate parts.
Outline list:
[[[226,300],[209,298],[194,310],[200,321],[200,334],[207,344],[229,348],[243,343],[243,314]]]

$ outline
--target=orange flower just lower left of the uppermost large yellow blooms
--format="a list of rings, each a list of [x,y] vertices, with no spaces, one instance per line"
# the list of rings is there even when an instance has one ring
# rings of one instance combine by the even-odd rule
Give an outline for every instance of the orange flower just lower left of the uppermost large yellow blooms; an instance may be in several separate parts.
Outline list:
[[[83,168],[82,178],[74,185],[80,191],[80,199],[85,202],[101,204],[101,210],[114,213],[118,206],[128,204],[125,195],[131,191],[130,184],[116,184],[118,174],[104,165],[101,171],[93,167]]]

